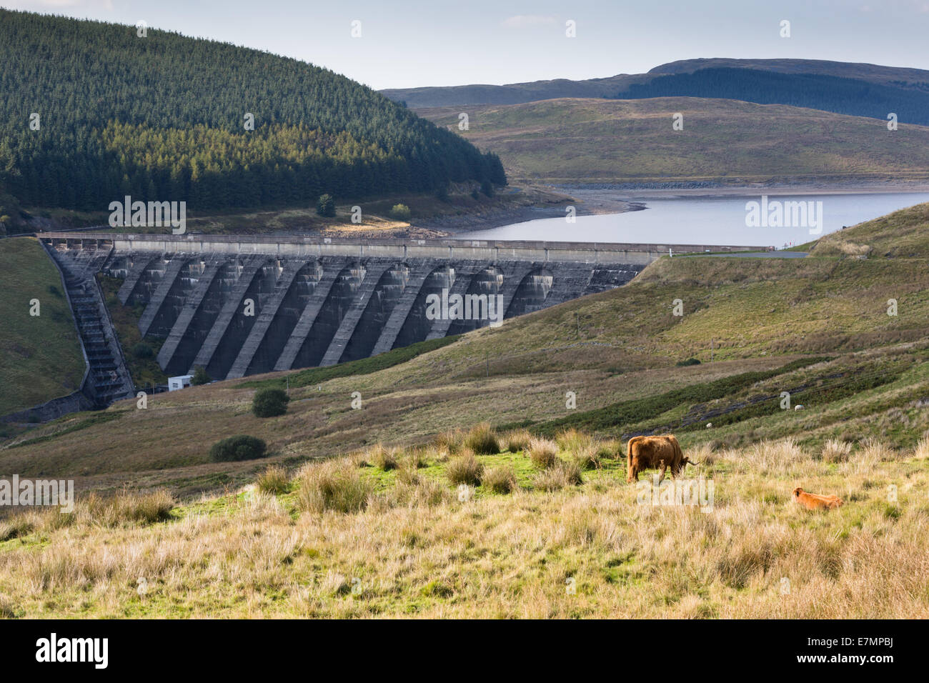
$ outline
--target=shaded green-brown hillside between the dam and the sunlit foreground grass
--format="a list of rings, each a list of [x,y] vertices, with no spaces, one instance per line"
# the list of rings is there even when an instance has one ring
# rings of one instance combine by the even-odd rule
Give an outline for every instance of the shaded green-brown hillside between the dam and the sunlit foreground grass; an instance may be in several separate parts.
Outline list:
[[[918,205],[841,237],[880,244],[880,221],[924,234],[927,212]],[[230,434],[267,440],[272,462],[294,466],[481,421],[609,437],[670,427],[691,445],[713,422],[711,438],[734,447],[784,437],[810,448],[866,437],[911,447],[929,429],[927,258],[925,244],[906,256],[873,249],[866,259],[817,249],[803,259],[662,258],[620,289],[420,355],[412,354],[423,345],[288,374],[292,402],[279,418],[258,419],[249,407],[256,387],[286,387],[284,374],[193,387],[150,397],[146,410],[124,401],[7,441],[0,473],[54,471],[82,488],[164,484],[190,494],[242,483],[264,466],[210,463],[209,444]],[[678,297],[681,318],[671,314]],[[890,298],[896,316],[887,315]],[[690,358],[701,362],[677,366]],[[779,410],[783,390],[811,410]],[[575,410],[566,410],[567,391]],[[139,449],[143,442],[163,445]]]

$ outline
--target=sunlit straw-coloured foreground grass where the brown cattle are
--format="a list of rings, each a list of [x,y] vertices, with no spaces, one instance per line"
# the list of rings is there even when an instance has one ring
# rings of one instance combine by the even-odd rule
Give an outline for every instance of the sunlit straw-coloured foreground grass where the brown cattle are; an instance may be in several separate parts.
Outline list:
[[[856,444],[841,463],[792,440],[687,454],[704,465],[686,479],[713,480],[709,512],[639,502],[622,459],[546,491],[525,453],[478,456],[516,486],[461,500],[441,481],[461,456],[434,446],[414,484],[346,457],[305,466],[294,493],[248,487],[167,521],[87,507],[0,542],[0,615],[929,616],[929,440]],[[334,504],[304,506],[321,481]],[[845,505],[806,512],[796,485]]]

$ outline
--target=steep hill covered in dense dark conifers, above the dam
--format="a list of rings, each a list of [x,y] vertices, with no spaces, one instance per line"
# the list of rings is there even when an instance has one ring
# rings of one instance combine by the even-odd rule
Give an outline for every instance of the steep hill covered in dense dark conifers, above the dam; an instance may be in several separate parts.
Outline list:
[[[344,76],[151,28],[0,9],[0,93],[0,199],[22,204],[196,211],[506,181],[495,155]]]

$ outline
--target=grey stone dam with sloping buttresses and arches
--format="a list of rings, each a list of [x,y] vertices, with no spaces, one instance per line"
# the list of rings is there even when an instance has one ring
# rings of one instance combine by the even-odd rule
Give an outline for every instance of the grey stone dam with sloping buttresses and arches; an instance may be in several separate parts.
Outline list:
[[[427,315],[427,301],[437,296],[492,296],[503,303],[506,320],[619,287],[669,253],[764,249],[103,232],[37,236],[63,271],[84,276],[82,301],[96,292],[102,303],[99,287],[88,282],[91,275],[122,281],[118,297],[142,311],[141,335],[164,340],[157,360],[166,374],[190,374],[202,366],[214,379],[355,361],[490,324]],[[107,361],[110,376],[125,373],[118,355]],[[132,387],[124,376],[111,381]]]

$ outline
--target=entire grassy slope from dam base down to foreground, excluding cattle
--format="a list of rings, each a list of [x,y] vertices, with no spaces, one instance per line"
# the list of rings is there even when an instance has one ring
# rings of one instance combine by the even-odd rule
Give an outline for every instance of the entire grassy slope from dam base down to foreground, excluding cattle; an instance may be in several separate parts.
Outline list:
[[[0,519],[0,616],[924,618],[926,234],[921,204],[803,259],[662,258],[497,329],[38,427],[0,474],[120,493]],[[667,430],[699,505],[625,481],[619,439]],[[268,457],[208,461],[242,433]]]

